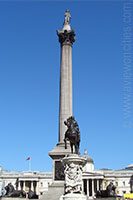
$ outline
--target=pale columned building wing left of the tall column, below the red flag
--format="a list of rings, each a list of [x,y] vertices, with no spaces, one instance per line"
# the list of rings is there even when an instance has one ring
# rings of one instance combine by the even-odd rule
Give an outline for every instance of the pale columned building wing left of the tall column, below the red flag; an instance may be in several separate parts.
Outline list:
[[[52,182],[51,172],[38,172],[38,171],[27,171],[27,172],[16,172],[0,170],[0,196],[5,193],[4,187],[8,183],[12,183],[15,189],[24,190],[28,193],[31,189],[39,196],[43,195],[47,190],[48,186]]]

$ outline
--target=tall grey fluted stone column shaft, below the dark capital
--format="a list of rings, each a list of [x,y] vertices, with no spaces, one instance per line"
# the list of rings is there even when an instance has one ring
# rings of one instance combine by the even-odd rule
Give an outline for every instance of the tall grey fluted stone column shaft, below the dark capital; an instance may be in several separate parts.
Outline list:
[[[67,127],[64,121],[72,116],[72,46],[61,47],[59,143],[64,143]]]

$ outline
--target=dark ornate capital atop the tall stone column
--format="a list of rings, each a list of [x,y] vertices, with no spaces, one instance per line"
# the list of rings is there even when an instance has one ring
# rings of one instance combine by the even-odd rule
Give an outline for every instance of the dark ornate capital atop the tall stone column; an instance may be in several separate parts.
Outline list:
[[[59,42],[61,43],[61,46],[63,45],[71,45],[73,42],[75,42],[75,32],[74,30],[57,30],[57,35],[59,37]]]

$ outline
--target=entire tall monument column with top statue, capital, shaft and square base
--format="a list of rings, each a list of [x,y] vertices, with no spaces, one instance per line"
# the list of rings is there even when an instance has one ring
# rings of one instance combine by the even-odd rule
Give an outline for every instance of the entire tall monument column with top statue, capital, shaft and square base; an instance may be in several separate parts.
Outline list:
[[[58,143],[49,152],[49,155],[53,159],[53,181],[64,180],[64,172],[60,159],[70,153],[70,146],[65,149],[64,144],[64,134],[67,129],[64,121],[72,116],[72,44],[75,42],[75,32],[71,29],[70,18],[69,10],[66,10],[62,30],[57,31],[61,45],[60,110]]]

